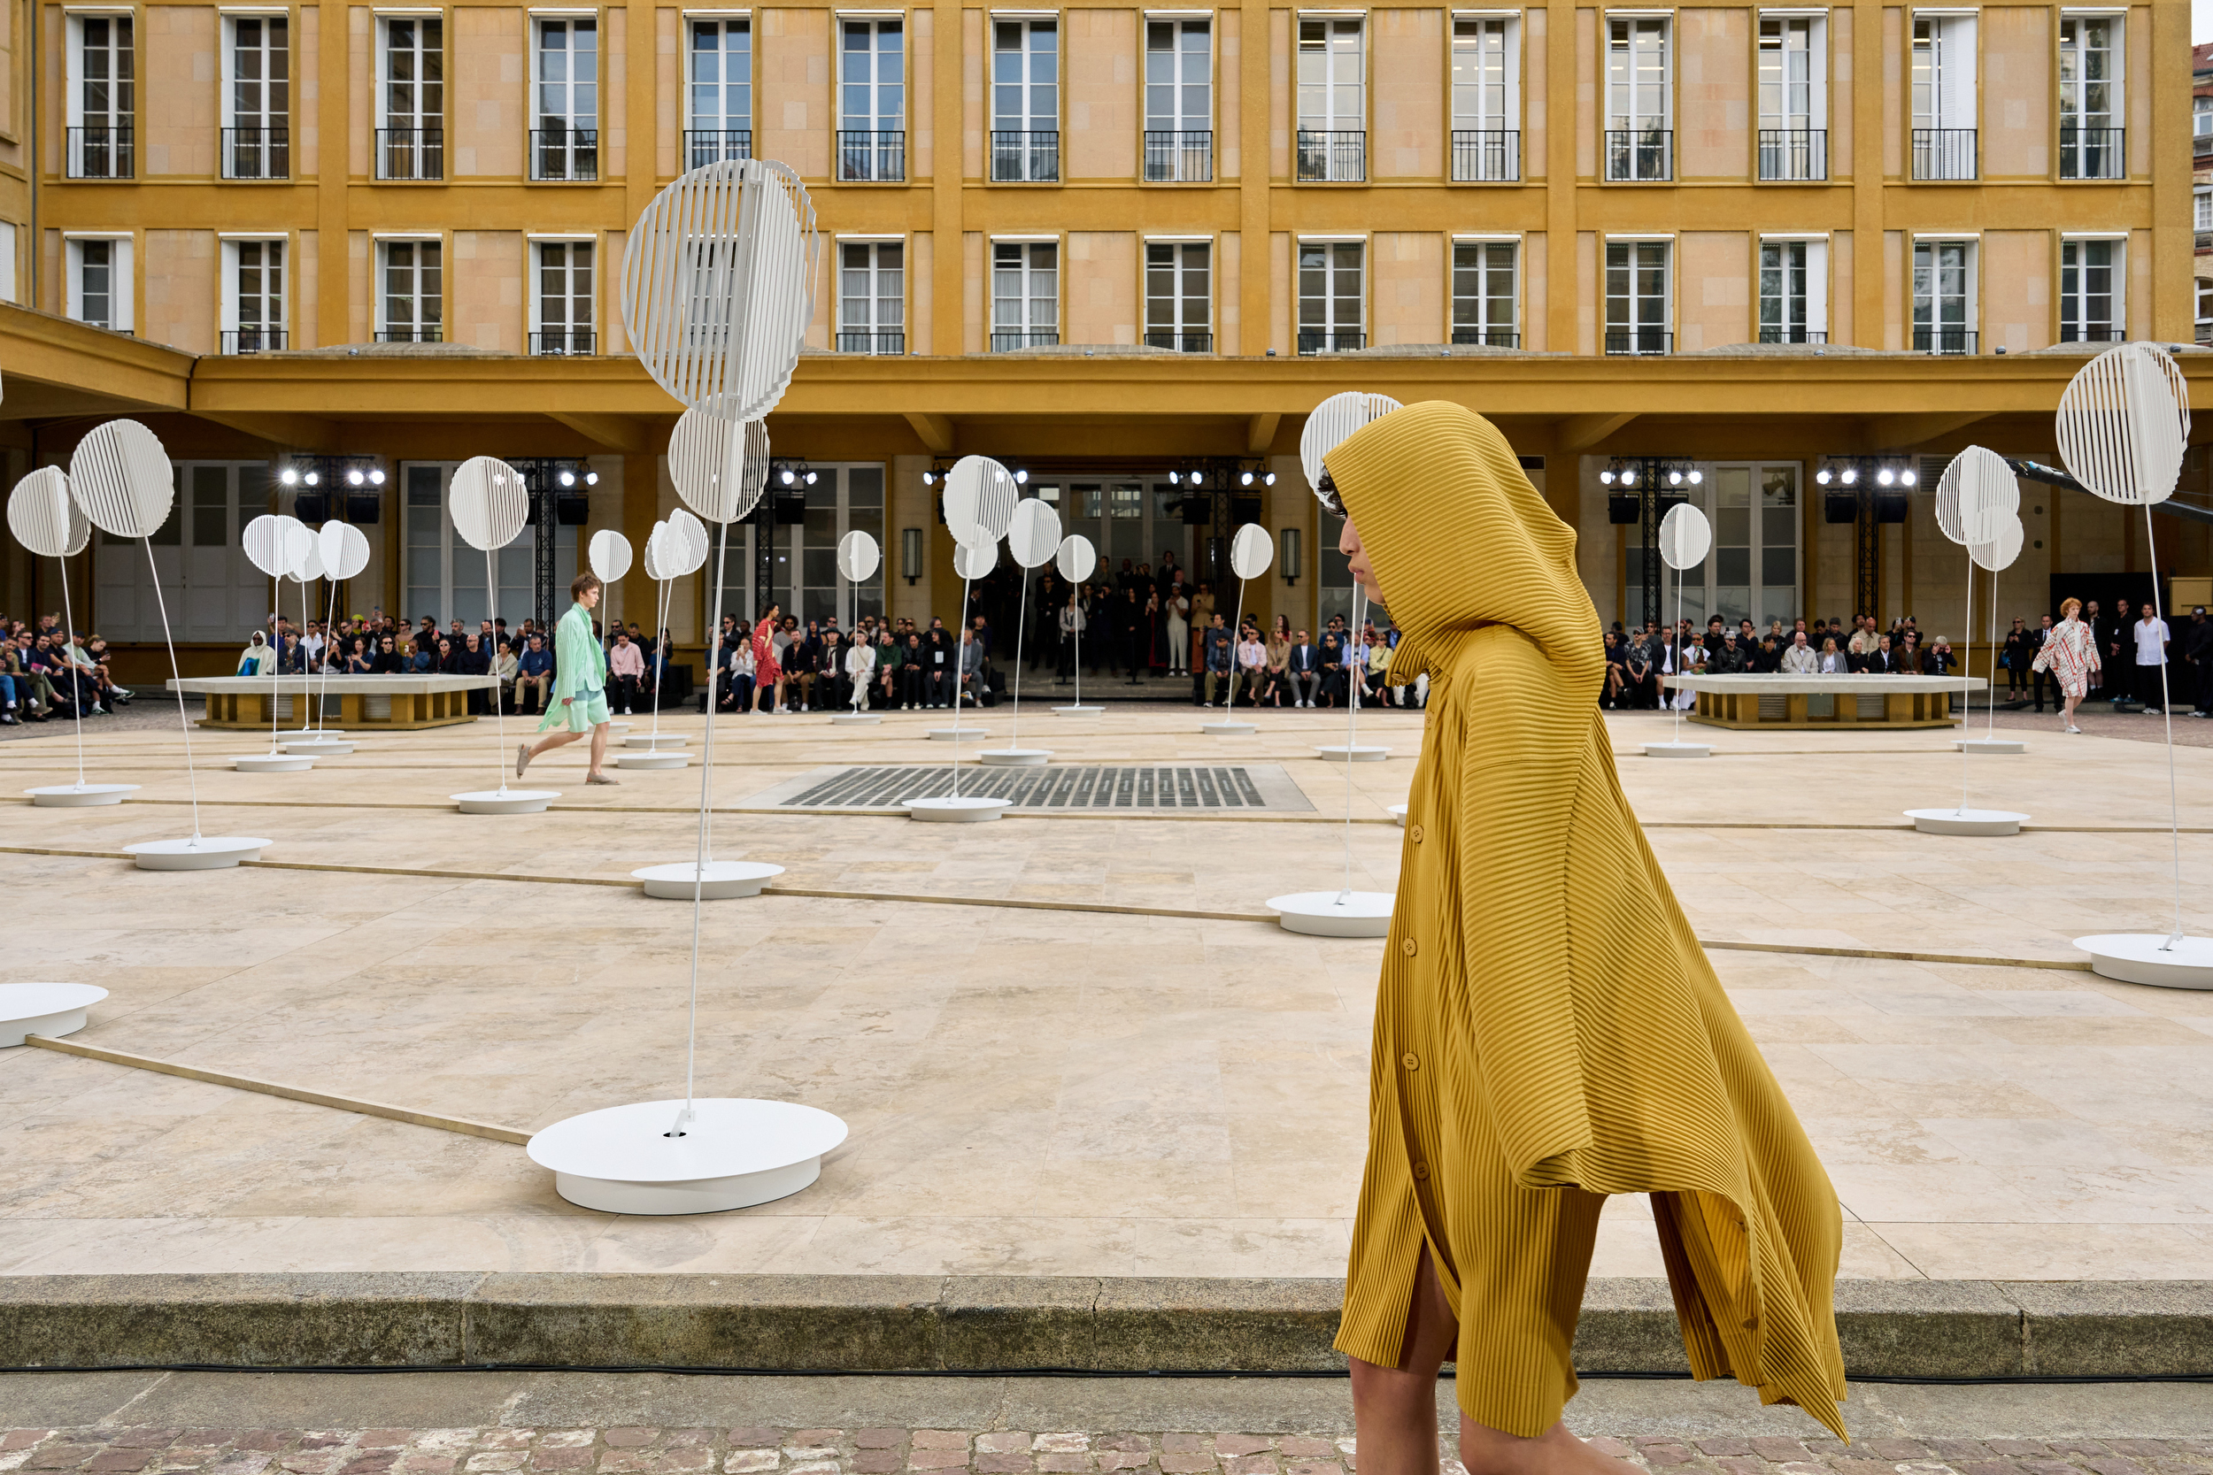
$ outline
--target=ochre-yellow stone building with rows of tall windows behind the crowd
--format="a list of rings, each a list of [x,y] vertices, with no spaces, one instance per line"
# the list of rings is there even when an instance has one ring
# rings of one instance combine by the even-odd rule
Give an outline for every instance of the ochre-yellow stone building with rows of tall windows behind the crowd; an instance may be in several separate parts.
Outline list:
[[[1230,522],[1266,524],[1284,557],[1248,606],[1312,624],[1346,577],[1297,433],[1359,387],[1498,420],[1607,619],[1644,610],[1642,533],[1602,480],[1635,467],[1715,517],[1693,613],[1872,604],[1956,637],[1934,469],[1970,440],[2056,460],[2087,354],[2193,341],[2184,0],[4,15],[9,475],[102,418],[155,427],[181,489],[155,564],[204,668],[268,610],[237,531],[310,491],[281,469],[363,473],[328,509],[374,517],[354,613],[480,613],[443,504],[467,456],[575,475],[562,582],[580,531],[642,542],[675,504],[677,407],[626,354],[624,230],[719,157],[790,164],[823,239],[770,418],[806,467],[781,522],[733,529],[726,608],[952,617],[925,478],[976,451],[1111,566],[1173,551],[1204,577]],[[1903,522],[1859,498],[1881,471],[1916,473]],[[2151,566],[2142,515],[2038,484],[2023,515],[2005,615],[2049,608],[2054,575]],[[828,559],[854,526],[887,555],[859,593]],[[500,564],[502,615],[529,613],[536,535]],[[2209,571],[2204,524],[2158,535],[2164,573]],[[157,635],[144,566],[95,540],[73,571],[126,646]],[[0,608],[55,595],[11,548]],[[679,641],[706,604],[679,586]],[[642,573],[611,608],[651,621]]]

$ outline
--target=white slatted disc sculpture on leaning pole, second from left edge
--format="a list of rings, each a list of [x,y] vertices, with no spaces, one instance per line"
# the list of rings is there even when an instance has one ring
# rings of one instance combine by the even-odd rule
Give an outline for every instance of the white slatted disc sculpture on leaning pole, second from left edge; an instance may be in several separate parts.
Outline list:
[[[168,522],[177,502],[177,480],[168,451],[137,420],[108,420],[77,442],[69,458],[69,495],[102,533],[137,537],[146,548],[146,573],[153,579],[155,610],[162,615],[162,644],[168,648],[170,690],[177,674],[177,641],[168,628],[168,599],[162,597],[162,568],[153,559],[153,535]],[[193,772],[193,719],[186,697],[177,692],[177,721],[184,725],[184,781],[193,798],[193,834],[184,840],[144,840],[124,851],[142,871],[215,871],[239,860],[259,860],[268,840],[254,836],[199,834],[199,778]]]

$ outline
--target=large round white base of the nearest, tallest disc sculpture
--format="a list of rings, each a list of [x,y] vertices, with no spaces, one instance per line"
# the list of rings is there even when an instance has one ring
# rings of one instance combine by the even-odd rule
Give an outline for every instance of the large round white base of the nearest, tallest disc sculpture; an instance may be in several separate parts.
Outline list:
[[[609,1106],[531,1137],[553,1192],[606,1214],[717,1214],[788,1199],[821,1176],[845,1123],[792,1101],[699,1097],[682,1137],[682,1101]]]

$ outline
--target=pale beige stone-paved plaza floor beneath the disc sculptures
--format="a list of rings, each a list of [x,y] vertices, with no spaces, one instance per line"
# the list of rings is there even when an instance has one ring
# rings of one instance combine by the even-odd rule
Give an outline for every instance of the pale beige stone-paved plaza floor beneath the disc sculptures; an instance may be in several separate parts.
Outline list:
[[[1005,710],[985,721],[1005,739]],[[1392,885],[1385,805],[1421,721],[1363,714],[1394,752],[1352,770],[1350,829],[1346,770],[1312,756],[1341,719],[1197,723],[1027,710],[1022,739],[1056,761],[1281,765],[1315,812],[757,812],[814,770],[943,763],[938,714],[721,723],[715,854],[788,871],[708,907],[699,1081],[845,1117],[803,1194],[617,1218],[558,1199],[518,1146],[18,1048],[0,1274],[1337,1276],[1381,944],[1284,933],[1264,902],[1339,885],[1348,836],[1354,885]],[[664,728],[697,752],[699,716]],[[1963,840],[1899,816],[1959,798],[1943,732],[1708,730],[1711,761],[1635,756],[1662,728],[1613,719],[1624,785],[1837,1181],[1843,1274],[2213,1278],[2213,995],[2093,977],[2069,946],[2171,916],[2162,750],[2032,732],[2027,756],[1974,763],[1972,801],[2036,827]],[[252,734],[193,741],[204,829],[272,838],[261,867],[115,858],[190,829],[175,730],[93,728],[93,776],[146,785],[135,803],[0,807],[29,922],[0,977],[111,988],[77,1039],[520,1130],[682,1092],[690,911],[628,871],[693,856],[697,767],[586,789],[569,747],[531,770],[553,812],[485,818],[445,796],[496,781],[489,721],[363,739],[308,774],[228,772]],[[11,789],[73,776],[66,730],[4,754]],[[2213,752],[2178,763],[2204,931]],[[1593,1274],[1662,1274],[1642,1201],[1613,1201]]]

